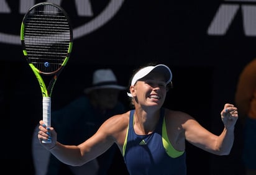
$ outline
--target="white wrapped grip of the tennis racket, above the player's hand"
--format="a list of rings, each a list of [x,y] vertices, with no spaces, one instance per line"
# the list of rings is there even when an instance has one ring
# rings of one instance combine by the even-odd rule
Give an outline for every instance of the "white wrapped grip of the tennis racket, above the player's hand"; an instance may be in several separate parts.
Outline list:
[[[51,127],[51,97],[43,97],[43,122],[47,128]],[[43,140],[42,143],[52,143],[52,141]]]

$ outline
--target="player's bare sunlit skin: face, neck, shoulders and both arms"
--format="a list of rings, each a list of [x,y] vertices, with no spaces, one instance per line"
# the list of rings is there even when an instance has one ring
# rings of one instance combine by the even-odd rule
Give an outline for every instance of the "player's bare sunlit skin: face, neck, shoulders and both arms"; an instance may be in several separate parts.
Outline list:
[[[164,77],[162,74],[150,73],[137,81],[134,86],[130,86],[130,94],[134,99],[135,133],[138,135],[152,133],[157,126],[160,108],[167,94],[167,85]],[[114,143],[119,146],[122,153],[122,146],[124,145],[129,124],[129,114],[130,111],[106,120],[93,137],[78,146],[62,145],[57,142],[57,133],[51,127],[49,130],[52,143],[43,144],[43,146],[46,149],[50,149],[51,153],[60,161],[73,166],[84,164],[101,155]],[[225,104],[221,111],[224,129],[221,135],[214,135],[190,115],[181,111],[165,109],[167,135],[175,150],[178,151],[185,150],[185,140],[187,140],[194,146],[209,153],[229,155],[234,141],[234,125],[237,117],[237,108],[232,104]],[[40,121],[39,130],[39,140],[47,139],[47,128],[43,126],[42,120]]]

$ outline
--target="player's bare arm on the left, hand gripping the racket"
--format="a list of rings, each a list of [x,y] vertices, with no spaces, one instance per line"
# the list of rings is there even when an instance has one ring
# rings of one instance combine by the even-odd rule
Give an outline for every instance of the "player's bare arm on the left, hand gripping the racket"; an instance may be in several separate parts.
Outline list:
[[[42,143],[43,147],[49,150],[57,159],[71,166],[81,166],[103,154],[115,142],[121,131],[125,128],[122,115],[115,115],[106,120],[99,130],[88,140],[80,145],[63,145],[57,141],[57,133],[53,127],[46,128],[40,120],[39,135],[40,143],[42,140],[50,138],[52,143]],[[127,123],[127,122],[126,122]],[[125,133],[125,132],[122,132]],[[49,137],[50,134],[50,137]]]

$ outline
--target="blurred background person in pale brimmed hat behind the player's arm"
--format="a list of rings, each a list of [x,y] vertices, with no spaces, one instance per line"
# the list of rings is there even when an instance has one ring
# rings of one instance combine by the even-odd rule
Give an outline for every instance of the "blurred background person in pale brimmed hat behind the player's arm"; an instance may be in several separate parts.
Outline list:
[[[93,83],[62,109],[52,113],[52,126],[58,132],[58,139],[67,145],[78,145],[93,135],[109,117],[125,112],[119,101],[119,92],[126,89],[117,84],[117,78],[110,69],[99,69],[93,73]],[[32,138],[32,157],[35,175],[46,174],[107,174],[117,146],[113,145],[93,161],[83,166],[68,166],[61,163],[50,151],[40,145],[37,138],[38,125]]]

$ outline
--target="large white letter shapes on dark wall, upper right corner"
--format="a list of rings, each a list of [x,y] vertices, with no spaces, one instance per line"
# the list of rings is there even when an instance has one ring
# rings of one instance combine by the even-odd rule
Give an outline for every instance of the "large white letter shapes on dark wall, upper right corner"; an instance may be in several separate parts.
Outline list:
[[[256,0],[232,0],[229,4],[222,3],[211,21],[208,28],[208,35],[225,35],[229,29],[235,15],[239,11],[242,12],[242,24],[245,36],[256,36],[256,5],[252,4]],[[237,3],[236,3],[237,2]],[[247,4],[245,4],[247,2]],[[248,4],[250,2],[250,4]]]

